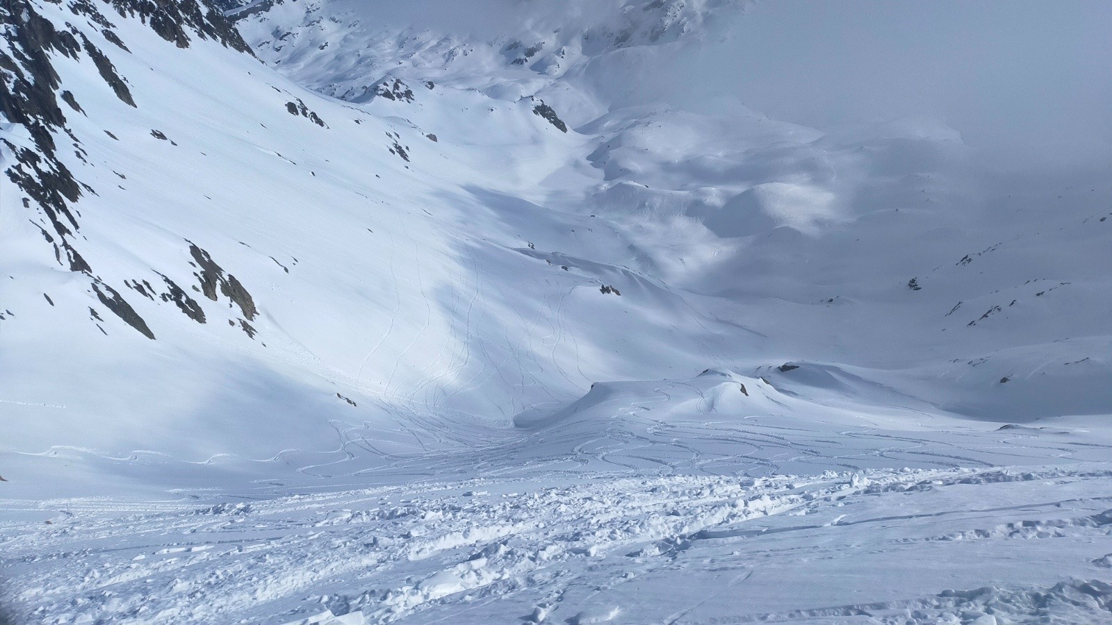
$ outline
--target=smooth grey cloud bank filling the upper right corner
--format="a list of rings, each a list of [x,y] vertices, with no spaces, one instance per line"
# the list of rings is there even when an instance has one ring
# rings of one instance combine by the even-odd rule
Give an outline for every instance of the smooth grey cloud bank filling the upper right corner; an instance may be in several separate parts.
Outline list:
[[[762,0],[671,77],[823,129],[940,119],[1009,165],[1112,162],[1110,0]]]

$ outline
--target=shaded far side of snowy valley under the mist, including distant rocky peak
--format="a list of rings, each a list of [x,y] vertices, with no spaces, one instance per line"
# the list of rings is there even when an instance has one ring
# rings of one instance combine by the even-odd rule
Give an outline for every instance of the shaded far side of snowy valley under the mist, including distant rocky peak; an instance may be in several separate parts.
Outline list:
[[[544,12],[507,19],[523,26],[486,39],[411,28],[373,3],[276,2],[239,24],[296,81],[449,141],[474,110],[448,105],[460,90],[486,96],[483,117],[546,102],[589,149],[563,171],[596,171],[582,187],[550,177],[530,200],[615,224],[628,246],[594,259],[714,297],[705,309],[767,337],[761,357],[880,369],[979,418],[1109,411],[1105,178],[992,171],[929,120],[823,135],[729,102],[715,115],[639,105],[662,57],[743,7],[575,10],[586,6],[555,26]],[[625,37],[645,32],[672,34]],[[738,356],[721,365],[767,364]]]

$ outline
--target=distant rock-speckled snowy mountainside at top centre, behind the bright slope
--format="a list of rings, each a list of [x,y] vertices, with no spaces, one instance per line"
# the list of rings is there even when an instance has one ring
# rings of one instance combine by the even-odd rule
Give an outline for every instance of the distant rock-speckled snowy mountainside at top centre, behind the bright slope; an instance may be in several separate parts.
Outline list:
[[[516,100],[596,60],[697,42],[751,0],[222,0],[255,52],[310,89],[353,102],[408,101],[435,81]],[[620,60],[616,61],[618,65]],[[646,61],[643,67],[651,67]],[[616,82],[637,77],[618,69]],[[380,81],[390,80],[383,89]],[[590,88],[588,88],[589,90]],[[419,91],[419,90],[414,90]],[[393,96],[393,97],[391,97]],[[607,93],[592,96],[599,101]],[[588,98],[589,99],[589,98]],[[555,98],[552,102],[559,107]]]

